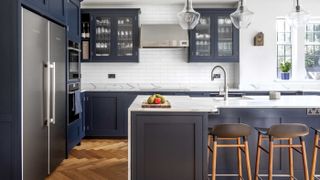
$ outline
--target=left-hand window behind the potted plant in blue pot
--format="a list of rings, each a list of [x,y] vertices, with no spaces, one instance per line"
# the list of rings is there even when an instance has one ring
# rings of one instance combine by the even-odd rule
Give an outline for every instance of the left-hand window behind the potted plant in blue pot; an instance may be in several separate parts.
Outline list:
[[[283,62],[292,63],[291,27],[285,19],[277,19],[277,60],[278,78],[280,78],[280,64]],[[291,72],[290,72],[291,74]]]

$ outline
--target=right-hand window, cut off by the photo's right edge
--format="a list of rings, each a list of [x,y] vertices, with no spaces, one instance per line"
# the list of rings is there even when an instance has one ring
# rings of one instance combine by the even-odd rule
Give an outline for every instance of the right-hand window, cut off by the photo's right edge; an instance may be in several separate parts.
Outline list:
[[[306,26],[305,68],[307,79],[320,80],[320,22]]]

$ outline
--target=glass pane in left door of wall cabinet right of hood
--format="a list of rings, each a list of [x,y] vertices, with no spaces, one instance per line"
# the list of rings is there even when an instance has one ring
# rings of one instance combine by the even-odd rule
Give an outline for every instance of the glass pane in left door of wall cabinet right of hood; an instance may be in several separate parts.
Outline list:
[[[208,57],[212,55],[211,18],[201,16],[199,24],[195,28],[194,56]]]

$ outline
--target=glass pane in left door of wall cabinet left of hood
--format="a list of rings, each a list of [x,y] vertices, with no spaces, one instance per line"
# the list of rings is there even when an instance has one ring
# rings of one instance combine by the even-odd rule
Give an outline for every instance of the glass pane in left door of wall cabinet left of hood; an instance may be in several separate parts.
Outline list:
[[[111,55],[111,17],[95,17],[95,52],[96,57]]]

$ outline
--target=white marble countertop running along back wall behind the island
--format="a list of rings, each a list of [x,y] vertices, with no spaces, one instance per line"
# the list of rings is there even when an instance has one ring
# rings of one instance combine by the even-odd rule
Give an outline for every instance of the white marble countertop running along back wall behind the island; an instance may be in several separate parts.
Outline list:
[[[155,83],[82,83],[82,92],[211,92],[219,91],[222,86],[214,83],[207,84],[155,84]],[[229,91],[305,91],[320,92],[320,84],[264,84],[246,85],[239,89],[230,88]]]

